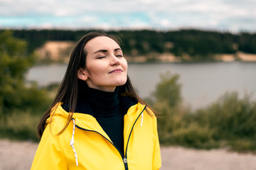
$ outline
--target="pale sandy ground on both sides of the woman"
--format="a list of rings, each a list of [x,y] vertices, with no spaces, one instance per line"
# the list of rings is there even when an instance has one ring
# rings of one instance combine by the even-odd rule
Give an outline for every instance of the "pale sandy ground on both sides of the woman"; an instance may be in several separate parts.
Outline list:
[[[38,143],[0,140],[0,170],[30,169]],[[162,170],[255,170],[255,154],[161,147]]]

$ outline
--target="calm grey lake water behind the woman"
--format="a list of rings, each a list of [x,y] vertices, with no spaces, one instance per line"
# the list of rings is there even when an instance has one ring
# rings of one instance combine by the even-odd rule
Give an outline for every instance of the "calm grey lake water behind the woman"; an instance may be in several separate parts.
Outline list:
[[[38,81],[41,86],[60,82],[66,64],[33,67],[28,71],[28,81]],[[159,74],[179,74],[182,96],[186,105],[201,108],[227,91],[238,91],[240,97],[251,94],[256,98],[256,62],[206,62],[206,63],[145,63],[129,64],[129,77],[139,96],[150,96],[159,82]]]

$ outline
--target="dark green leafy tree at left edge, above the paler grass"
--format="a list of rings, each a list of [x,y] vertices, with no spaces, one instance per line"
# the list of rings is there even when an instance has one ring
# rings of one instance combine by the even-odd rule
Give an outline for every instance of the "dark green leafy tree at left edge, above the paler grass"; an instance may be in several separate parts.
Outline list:
[[[26,84],[26,72],[34,62],[35,56],[27,52],[26,41],[14,38],[11,30],[0,32],[0,116],[46,103],[44,91],[36,84]]]

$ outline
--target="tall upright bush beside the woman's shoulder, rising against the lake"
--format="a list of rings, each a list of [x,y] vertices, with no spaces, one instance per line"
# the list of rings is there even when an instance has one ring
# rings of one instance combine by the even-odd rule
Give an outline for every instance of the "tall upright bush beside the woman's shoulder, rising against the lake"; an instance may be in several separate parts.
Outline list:
[[[171,142],[174,130],[181,127],[183,108],[180,107],[181,84],[178,83],[178,74],[166,72],[160,75],[161,80],[156,85],[156,91],[152,94],[151,101],[154,110],[160,113],[158,119],[159,140],[162,144]]]

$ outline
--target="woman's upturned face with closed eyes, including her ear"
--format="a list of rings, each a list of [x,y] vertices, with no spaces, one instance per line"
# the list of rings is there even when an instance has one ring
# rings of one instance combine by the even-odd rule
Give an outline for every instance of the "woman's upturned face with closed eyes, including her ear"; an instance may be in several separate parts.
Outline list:
[[[100,36],[88,41],[85,69],[80,69],[78,78],[87,85],[102,91],[114,91],[127,81],[127,61],[117,42]]]

